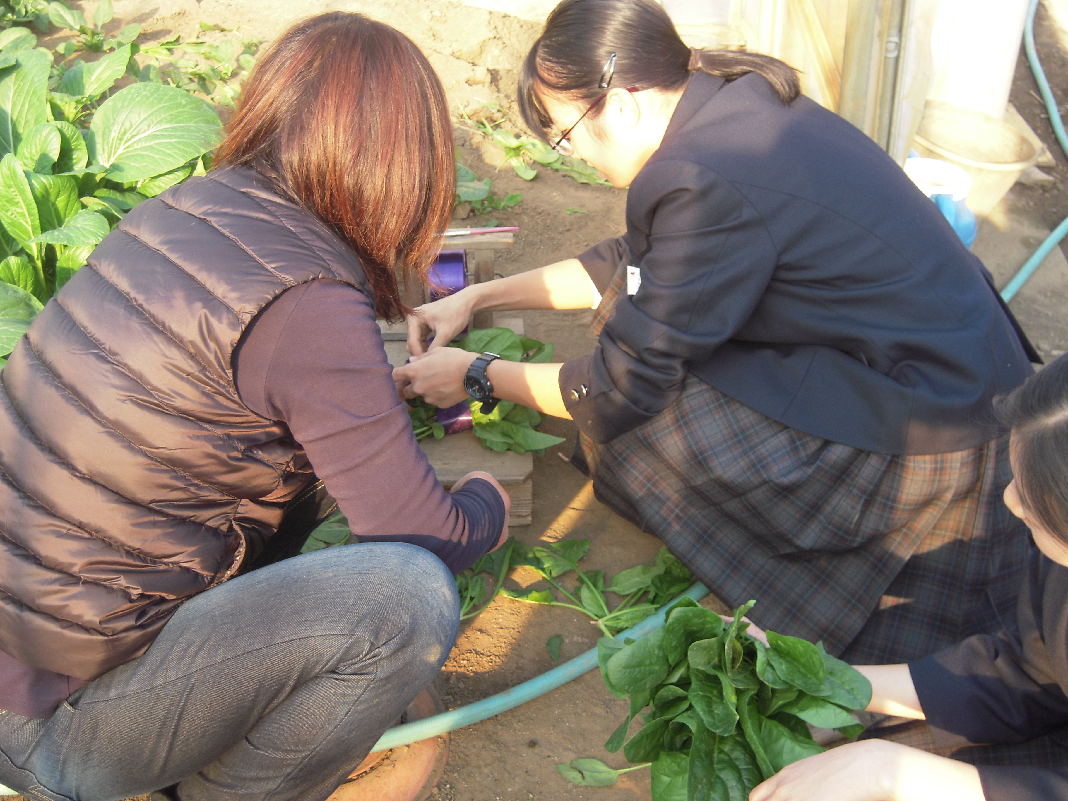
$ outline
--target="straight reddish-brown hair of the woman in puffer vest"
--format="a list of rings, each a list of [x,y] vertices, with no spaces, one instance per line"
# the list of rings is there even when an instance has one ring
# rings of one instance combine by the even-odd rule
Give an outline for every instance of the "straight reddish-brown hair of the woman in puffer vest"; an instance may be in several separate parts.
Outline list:
[[[363,263],[378,314],[427,282],[456,191],[441,81],[399,31],[362,14],[310,17],[256,61],[215,164],[244,164],[329,225]]]

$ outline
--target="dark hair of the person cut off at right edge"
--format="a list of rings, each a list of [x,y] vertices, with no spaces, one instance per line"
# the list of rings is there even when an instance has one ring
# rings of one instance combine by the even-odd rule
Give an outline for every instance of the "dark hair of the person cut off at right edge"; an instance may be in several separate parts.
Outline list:
[[[1035,522],[1068,544],[1068,356],[994,398],[1012,429],[1012,472],[1020,503]]]

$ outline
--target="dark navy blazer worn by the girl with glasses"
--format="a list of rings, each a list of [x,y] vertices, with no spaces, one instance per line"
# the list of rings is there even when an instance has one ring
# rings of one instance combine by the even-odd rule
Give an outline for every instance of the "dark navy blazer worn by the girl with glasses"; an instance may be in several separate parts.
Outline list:
[[[621,262],[642,280],[561,371],[597,442],[663,411],[693,373],[823,439],[949,453],[995,438],[991,398],[1032,373],[934,204],[860,130],[806,97],[785,106],[755,73],[694,74],[631,184],[626,235],[579,258],[600,292]]]

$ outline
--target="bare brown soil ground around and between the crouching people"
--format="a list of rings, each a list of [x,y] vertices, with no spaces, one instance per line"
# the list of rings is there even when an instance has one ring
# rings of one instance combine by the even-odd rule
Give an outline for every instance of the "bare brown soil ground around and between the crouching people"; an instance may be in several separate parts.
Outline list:
[[[73,4],[84,5],[87,12],[94,7],[93,2]],[[151,41],[164,41],[175,33],[191,38],[198,33],[198,21],[205,20],[225,27],[242,26],[237,33],[214,33],[209,37],[230,35],[240,40],[254,35],[266,42],[295,19],[332,9],[366,13],[412,36],[442,75],[454,107],[473,110],[488,100],[514,109],[515,69],[536,36],[538,26],[449,2],[115,0],[116,18],[109,28],[117,30],[122,25],[139,21]],[[1066,51],[1051,33],[1045,14],[1039,17],[1038,41],[1050,79],[1064,94],[1068,88]],[[1033,90],[1034,81],[1021,57],[1012,100],[1054,153],[1057,166],[1048,172],[1058,183],[1047,190],[1018,186],[1007,203],[1014,211],[1052,229],[1068,214],[1068,160],[1056,146],[1048,122],[1041,116],[1043,109],[1032,97]],[[512,191],[523,194],[522,203],[514,210],[494,214],[501,224],[520,226],[515,248],[499,252],[500,274],[513,274],[576,255],[623,231],[625,191],[582,186],[545,169],[539,170],[534,180],[523,182],[509,169],[498,172],[488,166],[478,143],[472,143],[462,127],[457,128],[457,143],[464,163],[480,178],[491,177],[499,194]],[[482,221],[471,217],[461,224]],[[1037,245],[1036,239],[1032,247]],[[1024,327],[1040,330],[1039,339],[1047,355],[1068,349],[1066,300],[1059,294],[1047,294],[1037,300],[1021,295],[1020,301],[1014,303]],[[595,340],[587,328],[590,316],[590,312],[522,314],[528,335],[555,343],[557,361],[593,349]],[[659,540],[594,499],[590,482],[561,458],[561,455],[569,457],[574,446],[571,423],[550,419],[544,429],[567,437],[567,441],[546,456],[535,458],[533,524],[514,529],[513,533],[525,543],[588,538],[592,547],[587,566],[603,568],[609,574],[650,562],[660,547]],[[534,579],[533,572],[519,569],[507,583],[528,586]],[[598,632],[586,618],[570,610],[498,599],[461,628],[456,647],[436,682],[439,693],[450,708],[455,708],[541,674],[553,666],[546,649],[546,641],[552,634],[563,635],[562,659],[566,660],[594,647]],[[614,787],[587,788],[566,783],[555,769],[557,763],[583,756],[624,767],[622,754],[607,754],[601,744],[625,714],[626,704],[610,695],[594,672],[509,712],[454,732],[449,765],[433,798],[441,801],[648,798],[646,771],[626,774]]]

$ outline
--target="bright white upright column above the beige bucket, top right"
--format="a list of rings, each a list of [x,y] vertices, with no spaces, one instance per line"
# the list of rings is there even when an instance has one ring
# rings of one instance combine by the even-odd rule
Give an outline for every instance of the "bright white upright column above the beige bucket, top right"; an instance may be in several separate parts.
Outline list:
[[[1005,116],[1028,0],[941,0],[927,97]]]

